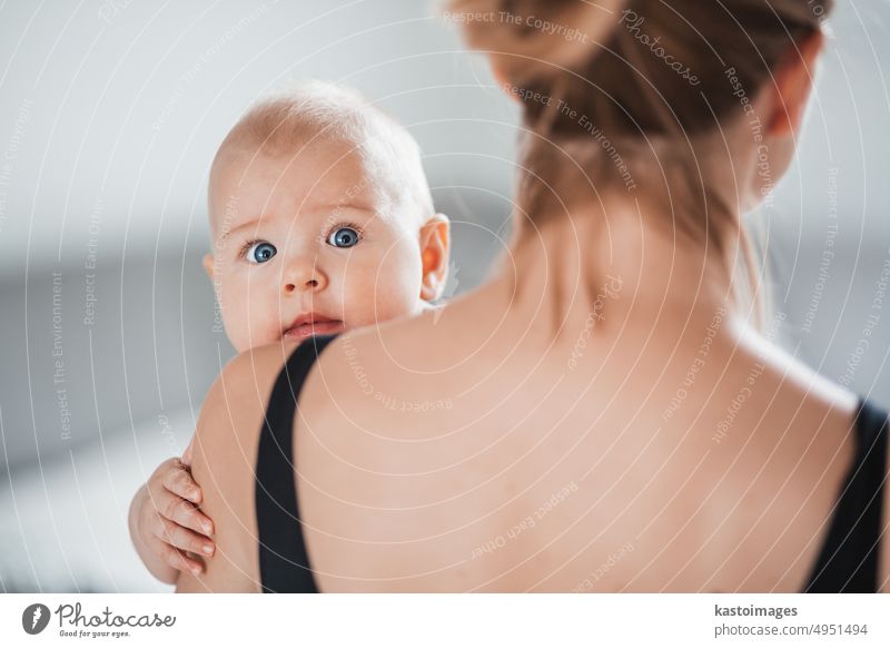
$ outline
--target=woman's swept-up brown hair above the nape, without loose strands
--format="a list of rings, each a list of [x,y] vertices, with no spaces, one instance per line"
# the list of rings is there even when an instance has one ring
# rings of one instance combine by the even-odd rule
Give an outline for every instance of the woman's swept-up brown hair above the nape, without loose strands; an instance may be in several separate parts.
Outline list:
[[[793,42],[819,29],[833,0],[452,0],[471,47],[492,52],[524,95],[526,119],[558,96],[612,137],[713,128],[738,114],[728,70],[753,99]],[[548,131],[575,135],[554,111]]]

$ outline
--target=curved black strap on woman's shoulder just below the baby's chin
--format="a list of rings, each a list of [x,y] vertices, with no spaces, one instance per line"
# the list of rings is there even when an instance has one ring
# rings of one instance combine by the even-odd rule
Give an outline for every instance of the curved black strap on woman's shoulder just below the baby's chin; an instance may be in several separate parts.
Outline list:
[[[266,409],[256,470],[259,575],[264,592],[317,592],[303,539],[294,462],[294,416],[303,383],[336,335],[300,344],[287,360]]]

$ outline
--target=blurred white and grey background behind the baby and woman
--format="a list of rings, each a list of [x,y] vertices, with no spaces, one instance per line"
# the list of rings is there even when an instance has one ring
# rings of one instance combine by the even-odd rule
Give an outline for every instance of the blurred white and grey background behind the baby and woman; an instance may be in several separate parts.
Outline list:
[[[869,317],[890,263],[890,4],[841,2],[831,29],[799,163],[751,217],[782,343],[888,405],[890,313]],[[457,289],[478,285],[517,110],[433,3],[0,1],[0,591],[169,589],[126,514],[233,354],[200,268],[207,170],[250,101],[309,77],[408,126],[455,222]]]

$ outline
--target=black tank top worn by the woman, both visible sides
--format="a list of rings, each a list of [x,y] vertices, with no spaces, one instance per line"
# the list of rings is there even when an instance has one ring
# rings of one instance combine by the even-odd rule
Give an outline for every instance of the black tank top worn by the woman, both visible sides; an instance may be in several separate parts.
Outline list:
[[[300,344],[273,387],[259,438],[256,511],[264,592],[317,592],[297,504],[294,416],[303,383],[336,335]],[[887,474],[888,413],[860,401],[856,456],[838,497],[828,536],[803,591],[878,591]]]

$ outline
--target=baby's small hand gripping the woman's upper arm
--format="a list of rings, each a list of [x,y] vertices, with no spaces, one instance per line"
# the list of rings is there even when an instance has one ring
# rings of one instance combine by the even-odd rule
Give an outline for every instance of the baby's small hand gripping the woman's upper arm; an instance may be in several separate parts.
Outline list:
[[[184,459],[190,460],[191,445]],[[196,504],[201,501],[201,489],[191,478],[187,463],[168,459],[161,463],[146,483],[146,494],[139,507],[139,539],[151,552],[177,571],[188,570],[199,575],[202,563],[188,552],[210,557],[215,547],[209,536],[214,533],[210,518]]]

